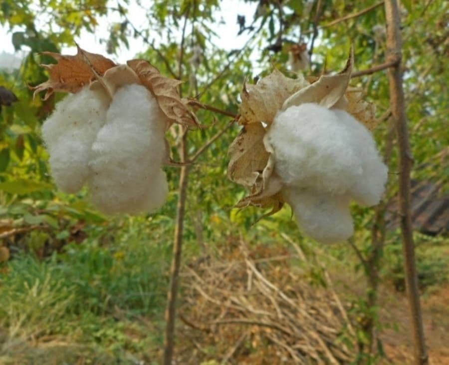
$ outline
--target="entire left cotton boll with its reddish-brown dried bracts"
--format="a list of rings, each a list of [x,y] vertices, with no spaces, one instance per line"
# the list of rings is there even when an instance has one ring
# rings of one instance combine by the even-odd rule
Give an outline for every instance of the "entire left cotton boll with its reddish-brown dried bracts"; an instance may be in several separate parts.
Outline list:
[[[180,99],[180,81],[162,76],[144,60],[116,65],[78,48],[74,56],[45,54],[49,79],[35,87],[71,94],[57,103],[42,126],[51,174],[58,188],[75,193],[84,185],[106,214],[154,212],[168,194],[166,130],[198,121]]]

